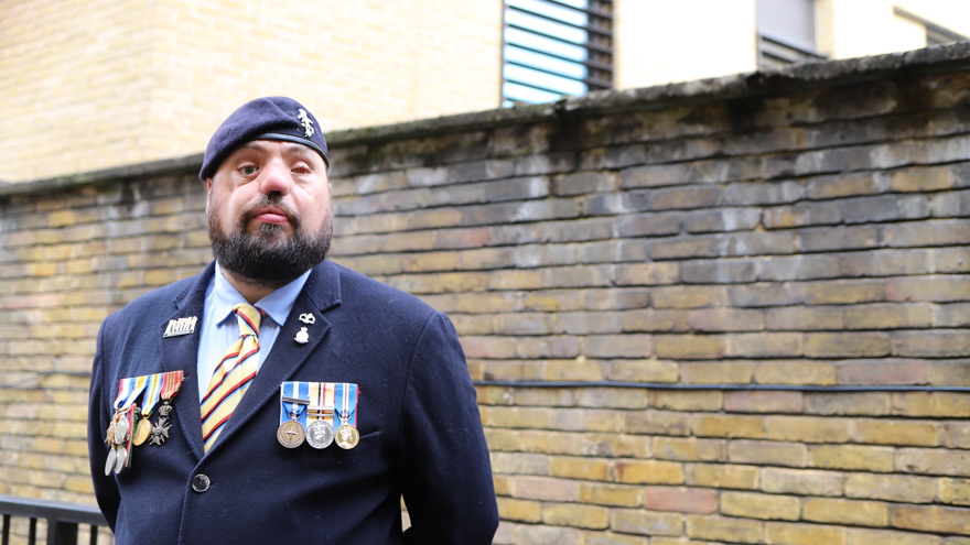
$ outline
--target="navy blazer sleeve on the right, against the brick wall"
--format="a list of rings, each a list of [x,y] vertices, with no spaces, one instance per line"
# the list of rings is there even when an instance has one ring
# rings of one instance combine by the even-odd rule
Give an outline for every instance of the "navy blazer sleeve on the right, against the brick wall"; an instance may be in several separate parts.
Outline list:
[[[441,313],[418,338],[399,437],[406,543],[491,544],[498,508],[488,447],[464,351]]]

